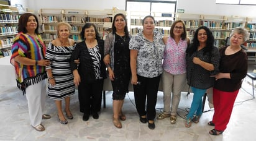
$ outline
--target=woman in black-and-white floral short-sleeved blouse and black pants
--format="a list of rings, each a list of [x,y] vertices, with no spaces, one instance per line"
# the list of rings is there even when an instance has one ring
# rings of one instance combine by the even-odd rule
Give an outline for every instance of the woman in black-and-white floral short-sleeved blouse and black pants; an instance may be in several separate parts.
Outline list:
[[[155,129],[155,105],[160,76],[163,72],[162,59],[165,45],[162,35],[155,31],[155,19],[147,15],[143,20],[143,32],[132,36],[129,43],[131,83],[140,122]],[[146,104],[147,103],[147,104]]]

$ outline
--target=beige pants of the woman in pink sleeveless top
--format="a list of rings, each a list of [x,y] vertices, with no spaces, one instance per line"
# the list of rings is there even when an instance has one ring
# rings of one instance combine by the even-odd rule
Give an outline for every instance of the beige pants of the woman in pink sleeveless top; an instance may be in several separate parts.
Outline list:
[[[163,113],[176,116],[180,103],[181,90],[186,83],[186,73],[172,75],[165,70],[162,74],[163,85]],[[171,98],[172,93],[172,98]],[[170,112],[171,105],[171,112]]]

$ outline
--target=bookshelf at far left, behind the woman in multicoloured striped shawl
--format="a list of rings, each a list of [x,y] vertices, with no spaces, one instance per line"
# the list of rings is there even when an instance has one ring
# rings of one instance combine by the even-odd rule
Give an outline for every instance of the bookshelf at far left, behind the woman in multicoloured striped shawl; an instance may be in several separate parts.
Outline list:
[[[19,12],[16,7],[0,4],[0,56],[11,55],[11,46],[17,32]]]

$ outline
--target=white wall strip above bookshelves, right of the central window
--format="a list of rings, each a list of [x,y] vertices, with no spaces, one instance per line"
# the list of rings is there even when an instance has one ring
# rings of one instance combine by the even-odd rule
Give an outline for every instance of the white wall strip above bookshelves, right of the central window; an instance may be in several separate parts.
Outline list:
[[[177,0],[177,9],[189,14],[256,17],[256,6],[215,4],[216,0]],[[251,0],[252,1],[252,0]]]

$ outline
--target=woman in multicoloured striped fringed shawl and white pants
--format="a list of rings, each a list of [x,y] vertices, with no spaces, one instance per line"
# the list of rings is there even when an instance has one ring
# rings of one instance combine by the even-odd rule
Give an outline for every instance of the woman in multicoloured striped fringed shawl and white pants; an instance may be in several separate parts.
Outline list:
[[[21,15],[18,35],[12,45],[11,64],[16,71],[17,87],[25,94],[29,106],[30,124],[35,130],[43,131],[42,119],[50,116],[42,114],[46,96],[45,45],[38,32],[39,21],[34,14]]]

